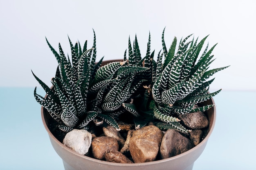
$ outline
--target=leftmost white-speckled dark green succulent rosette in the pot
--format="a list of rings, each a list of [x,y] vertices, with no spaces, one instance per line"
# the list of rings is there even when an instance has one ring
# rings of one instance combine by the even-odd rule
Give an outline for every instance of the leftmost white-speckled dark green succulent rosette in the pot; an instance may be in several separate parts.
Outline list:
[[[47,109],[61,130],[68,132],[74,128],[86,129],[86,125],[97,116],[96,112],[88,109],[88,90],[103,59],[95,63],[95,33],[93,46],[89,50],[87,41],[81,48],[79,42],[73,45],[69,39],[72,61],[65,56],[61,44],[58,46],[58,53],[47,39],[46,41],[58,61],[58,68],[56,76],[52,78],[53,88],[49,88],[32,72],[47,94],[44,98],[36,93],[35,88],[36,101]]]

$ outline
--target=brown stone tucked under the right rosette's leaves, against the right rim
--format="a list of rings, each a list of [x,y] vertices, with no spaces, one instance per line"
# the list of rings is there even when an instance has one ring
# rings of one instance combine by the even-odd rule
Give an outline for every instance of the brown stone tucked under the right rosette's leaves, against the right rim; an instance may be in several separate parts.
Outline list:
[[[179,115],[179,118],[190,129],[202,129],[209,126],[209,120],[203,112],[187,113]]]

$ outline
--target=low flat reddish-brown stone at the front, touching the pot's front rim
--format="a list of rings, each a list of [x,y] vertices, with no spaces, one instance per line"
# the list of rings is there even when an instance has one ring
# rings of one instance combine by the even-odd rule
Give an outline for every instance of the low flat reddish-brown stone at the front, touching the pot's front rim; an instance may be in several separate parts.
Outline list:
[[[121,152],[112,151],[105,155],[106,161],[115,163],[133,163],[128,157],[123,155]]]

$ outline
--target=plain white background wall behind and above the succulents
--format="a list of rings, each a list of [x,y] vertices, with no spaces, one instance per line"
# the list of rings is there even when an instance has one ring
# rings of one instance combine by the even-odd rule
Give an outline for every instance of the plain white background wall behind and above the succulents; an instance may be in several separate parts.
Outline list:
[[[166,27],[167,48],[191,33],[218,43],[212,67],[231,67],[215,74],[211,89],[256,90],[255,9],[254,0],[0,0],[0,87],[39,86],[31,70],[51,85],[57,62],[45,37],[70,54],[67,35],[91,47],[93,28],[97,59],[121,59],[135,33],[142,55],[149,31],[158,52]]]

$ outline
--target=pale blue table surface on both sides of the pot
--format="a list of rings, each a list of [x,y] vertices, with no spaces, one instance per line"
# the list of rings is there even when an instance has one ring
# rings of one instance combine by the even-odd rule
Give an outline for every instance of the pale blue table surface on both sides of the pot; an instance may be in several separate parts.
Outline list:
[[[0,169],[63,170],[49,141],[34,88],[0,87]],[[43,89],[38,93],[45,95]],[[193,170],[256,169],[256,92],[222,91],[214,97],[215,128]]]

